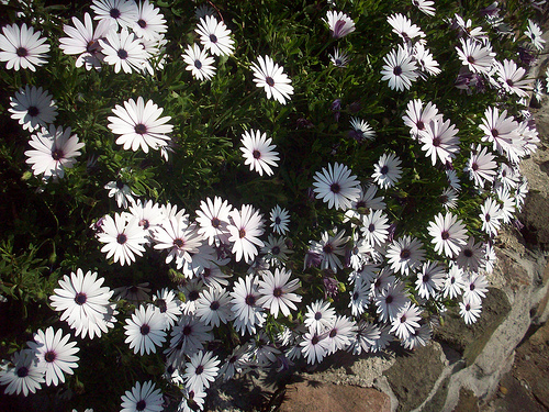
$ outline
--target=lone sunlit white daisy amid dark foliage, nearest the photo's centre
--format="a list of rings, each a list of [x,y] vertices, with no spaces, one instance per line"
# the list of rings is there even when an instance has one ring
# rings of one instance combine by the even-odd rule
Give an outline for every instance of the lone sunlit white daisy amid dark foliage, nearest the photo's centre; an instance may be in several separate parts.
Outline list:
[[[267,138],[267,134],[259,131],[249,130],[245,131],[242,135],[240,147],[245,158],[244,164],[249,165],[250,170],[256,170],[259,176],[267,176],[273,174],[271,166],[277,167],[278,152],[276,145],[271,145],[272,138]]]

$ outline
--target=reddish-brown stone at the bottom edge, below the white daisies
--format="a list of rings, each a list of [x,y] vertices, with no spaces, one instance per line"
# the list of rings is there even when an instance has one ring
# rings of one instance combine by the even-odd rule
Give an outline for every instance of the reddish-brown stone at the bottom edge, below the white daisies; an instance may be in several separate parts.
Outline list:
[[[280,412],[390,412],[389,397],[372,388],[312,381],[289,385]]]

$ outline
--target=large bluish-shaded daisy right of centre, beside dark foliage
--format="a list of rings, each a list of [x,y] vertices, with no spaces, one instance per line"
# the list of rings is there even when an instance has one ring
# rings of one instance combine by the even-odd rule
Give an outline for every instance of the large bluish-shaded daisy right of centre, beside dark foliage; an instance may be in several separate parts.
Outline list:
[[[360,194],[360,182],[350,174],[347,166],[337,162],[327,169],[323,168],[322,172],[317,171],[313,182],[316,199],[323,199],[329,209],[349,209]]]

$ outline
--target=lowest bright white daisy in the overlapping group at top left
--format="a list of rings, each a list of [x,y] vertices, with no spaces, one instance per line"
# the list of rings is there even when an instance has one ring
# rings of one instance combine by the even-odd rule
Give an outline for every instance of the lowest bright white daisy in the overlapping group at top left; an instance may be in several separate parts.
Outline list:
[[[99,44],[103,48],[104,62],[114,66],[114,73],[121,69],[128,74],[133,70],[141,71],[148,58],[143,44],[125,27],[120,33],[109,31],[105,40],[99,38]]]

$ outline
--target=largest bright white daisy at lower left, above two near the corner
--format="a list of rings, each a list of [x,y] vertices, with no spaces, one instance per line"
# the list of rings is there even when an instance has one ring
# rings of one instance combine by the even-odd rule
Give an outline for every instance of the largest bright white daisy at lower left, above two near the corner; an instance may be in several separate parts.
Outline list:
[[[49,297],[54,310],[63,312],[60,320],[75,329],[78,324],[89,325],[102,321],[109,312],[109,299],[114,293],[108,287],[102,286],[104,278],[98,279],[97,272],[87,271],[86,275],[79,268],[70,277],[64,275],[59,279],[60,289],[54,289]],[[83,330],[82,337],[88,329]],[[93,337],[90,334],[90,337]]]

